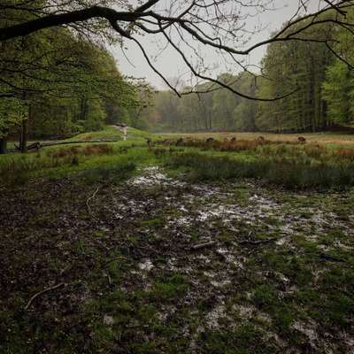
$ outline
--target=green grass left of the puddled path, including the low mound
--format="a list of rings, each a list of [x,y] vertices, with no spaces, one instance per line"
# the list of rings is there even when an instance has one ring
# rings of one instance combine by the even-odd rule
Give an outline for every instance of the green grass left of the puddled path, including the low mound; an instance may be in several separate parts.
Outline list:
[[[23,184],[42,177],[61,179],[73,174],[88,182],[112,180],[115,175],[125,178],[129,174],[127,172],[134,171],[136,165],[143,165],[154,159],[145,149],[144,137],[150,134],[135,128],[129,131],[127,142],[119,140],[94,145],[58,145],[26,155],[9,153],[0,156],[0,185]],[[115,128],[105,127],[103,131],[84,133],[68,141],[119,137],[120,133]]]

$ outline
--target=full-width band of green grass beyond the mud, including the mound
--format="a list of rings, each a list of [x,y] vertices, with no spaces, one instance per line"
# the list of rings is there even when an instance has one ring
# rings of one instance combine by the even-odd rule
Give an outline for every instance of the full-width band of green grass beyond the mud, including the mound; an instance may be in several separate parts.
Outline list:
[[[132,172],[134,165],[165,162],[170,173],[186,172],[190,181],[219,181],[253,178],[287,188],[343,188],[354,184],[354,153],[351,150],[327,149],[324,144],[289,144],[240,142],[242,150],[222,151],[198,143],[196,146],[146,150],[145,138],[160,140],[129,128],[128,140],[112,126],[77,135],[69,141],[118,139],[105,151],[87,153],[92,144],[82,143],[48,147],[26,156],[8,154],[0,157],[3,184],[24,183],[31,178],[51,179],[81,173],[84,181],[95,181]],[[252,135],[254,136],[254,135]],[[351,135],[350,135],[351,138]],[[103,145],[103,144],[102,144]],[[86,171],[86,172],[85,172]]]

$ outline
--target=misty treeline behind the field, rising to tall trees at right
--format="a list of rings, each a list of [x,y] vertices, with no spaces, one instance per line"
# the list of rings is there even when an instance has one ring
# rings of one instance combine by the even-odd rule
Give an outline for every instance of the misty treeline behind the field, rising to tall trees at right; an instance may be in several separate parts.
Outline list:
[[[160,91],[155,97],[157,128],[306,132],[349,124],[354,113],[353,48],[350,29],[328,24],[310,28],[298,41],[273,42],[262,60],[262,74],[224,73],[218,79],[249,96],[291,95],[273,102],[252,101],[227,89],[213,90],[211,83],[196,88],[211,92],[181,99],[172,91]]]

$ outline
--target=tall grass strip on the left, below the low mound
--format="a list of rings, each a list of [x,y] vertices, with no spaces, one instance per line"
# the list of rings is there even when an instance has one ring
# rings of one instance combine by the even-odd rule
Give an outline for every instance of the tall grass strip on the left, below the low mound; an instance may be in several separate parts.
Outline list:
[[[107,180],[113,175],[124,178],[135,169],[135,160],[144,159],[139,151],[100,144],[7,155],[0,158],[0,185],[25,183],[36,176],[61,178],[82,171],[83,181]]]

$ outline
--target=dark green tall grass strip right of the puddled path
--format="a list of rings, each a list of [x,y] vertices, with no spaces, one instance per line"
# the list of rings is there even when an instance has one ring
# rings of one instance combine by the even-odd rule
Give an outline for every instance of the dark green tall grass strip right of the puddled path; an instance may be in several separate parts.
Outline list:
[[[341,161],[309,163],[303,159],[269,156],[257,160],[207,156],[197,152],[171,154],[171,168],[185,167],[191,181],[256,178],[287,188],[333,188],[354,185],[354,164]]]

